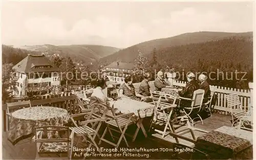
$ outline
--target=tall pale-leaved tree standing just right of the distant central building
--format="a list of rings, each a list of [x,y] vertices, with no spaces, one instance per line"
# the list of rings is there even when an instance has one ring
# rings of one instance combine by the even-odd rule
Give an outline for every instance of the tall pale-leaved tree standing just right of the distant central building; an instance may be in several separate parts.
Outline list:
[[[138,57],[134,61],[134,69],[132,75],[135,77],[137,82],[141,82],[143,79],[143,73],[146,72],[148,66],[147,58],[139,51]]]

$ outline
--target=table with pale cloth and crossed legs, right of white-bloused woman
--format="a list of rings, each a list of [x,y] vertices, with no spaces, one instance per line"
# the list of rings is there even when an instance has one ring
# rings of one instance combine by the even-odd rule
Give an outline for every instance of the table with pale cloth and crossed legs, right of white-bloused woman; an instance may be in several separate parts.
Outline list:
[[[133,100],[130,98],[122,98],[120,100],[114,101],[113,104],[114,108],[117,109],[117,112],[120,112],[122,114],[134,113],[134,120],[136,121],[137,129],[133,136],[133,141],[135,141],[139,129],[141,129],[144,136],[147,137],[146,130],[142,124],[142,121],[145,117],[153,116],[155,105]]]

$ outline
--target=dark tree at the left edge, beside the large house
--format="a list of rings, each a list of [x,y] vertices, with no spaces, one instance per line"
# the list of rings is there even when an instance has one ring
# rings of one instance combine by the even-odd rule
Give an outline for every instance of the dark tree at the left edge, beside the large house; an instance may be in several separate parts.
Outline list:
[[[2,65],[2,100],[4,103],[12,97],[12,92],[16,90],[16,75],[12,67],[11,63]]]

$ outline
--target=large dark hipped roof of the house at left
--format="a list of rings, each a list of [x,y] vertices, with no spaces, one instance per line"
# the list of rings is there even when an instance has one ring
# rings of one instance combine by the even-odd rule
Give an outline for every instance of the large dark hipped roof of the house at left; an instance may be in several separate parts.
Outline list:
[[[51,68],[36,68],[36,66],[51,66]],[[17,72],[54,72],[60,71],[45,55],[28,55],[12,67]]]

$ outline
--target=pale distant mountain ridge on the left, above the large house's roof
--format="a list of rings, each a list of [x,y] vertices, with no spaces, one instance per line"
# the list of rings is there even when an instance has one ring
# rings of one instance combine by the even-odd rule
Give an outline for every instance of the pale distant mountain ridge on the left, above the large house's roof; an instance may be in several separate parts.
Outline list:
[[[46,52],[49,55],[60,55],[63,57],[71,57],[76,62],[92,63],[99,61],[100,58],[114,54],[114,52],[120,50],[119,48],[102,46],[102,45],[32,45],[15,47],[20,49],[26,49],[31,51]]]

